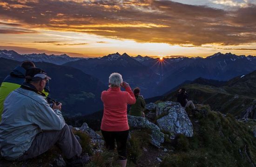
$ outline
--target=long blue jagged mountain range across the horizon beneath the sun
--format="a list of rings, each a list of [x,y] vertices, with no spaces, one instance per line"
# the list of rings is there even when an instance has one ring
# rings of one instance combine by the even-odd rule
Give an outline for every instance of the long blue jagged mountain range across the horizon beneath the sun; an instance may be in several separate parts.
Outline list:
[[[113,72],[122,74],[132,88],[140,87],[146,97],[164,94],[185,81],[196,78],[227,81],[236,76],[246,75],[256,70],[256,56],[237,56],[231,53],[215,53],[207,58],[159,58],[131,57],[127,53],[108,54],[101,58],[70,58],[67,55],[27,54],[1,50],[0,57],[17,61],[24,59],[63,64],[77,68],[97,77],[108,84],[108,76]]]

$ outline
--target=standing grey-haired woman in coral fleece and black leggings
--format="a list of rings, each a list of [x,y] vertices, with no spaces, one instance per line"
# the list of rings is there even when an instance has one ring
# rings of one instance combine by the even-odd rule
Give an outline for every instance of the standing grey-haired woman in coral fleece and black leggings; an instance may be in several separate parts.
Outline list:
[[[125,91],[121,91],[120,87]],[[123,82],[121,74],[112,73],[109,76],[109,89],[102,91],[101,100],[104,103],[101,133],[105,145],[108,150],[114,150],[116,141],[119,163],[121,167],[126,167],[126,145],[129,135],[127,104],[134,104],[135,96],[129,84]]]

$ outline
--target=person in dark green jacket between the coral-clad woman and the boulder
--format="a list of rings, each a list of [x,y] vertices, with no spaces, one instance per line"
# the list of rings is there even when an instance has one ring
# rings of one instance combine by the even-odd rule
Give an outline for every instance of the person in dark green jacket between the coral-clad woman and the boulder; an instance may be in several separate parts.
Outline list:
[[[136,98],[136,103],[131,105],[130,115],[145,117],[145,114],[144,114],[144,112],[142,112],[142,109],[145,108],[146,102],[145,102],[143,96],[140,96],[140,89],[135,88],[133,90],[133,92],[134,92],[134,95]]]

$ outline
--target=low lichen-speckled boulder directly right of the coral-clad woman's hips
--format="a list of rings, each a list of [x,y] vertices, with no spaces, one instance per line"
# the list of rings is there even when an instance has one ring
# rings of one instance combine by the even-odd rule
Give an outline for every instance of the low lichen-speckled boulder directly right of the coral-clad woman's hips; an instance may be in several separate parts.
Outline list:
[[[146,118],[139,116],[128,115],[128,124],[130,128],[135,129],[149,129],[151,130],[151,144],[157,148],[160,148],[160,144],[164,141],[164,134],[160,131],[154,123],[149,122]]]

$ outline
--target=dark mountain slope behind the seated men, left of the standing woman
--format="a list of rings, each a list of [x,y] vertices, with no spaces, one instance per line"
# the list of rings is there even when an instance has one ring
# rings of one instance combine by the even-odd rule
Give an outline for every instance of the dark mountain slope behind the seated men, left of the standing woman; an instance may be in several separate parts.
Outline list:
[[[20,62],[0,58],[0,83]],[[50,80],[50,96],[63,104],[66,116],[87,115],[103,108],[101,91],[108,89],[99,79],[81,70],[46,62],[35,62],[47,72]]]

